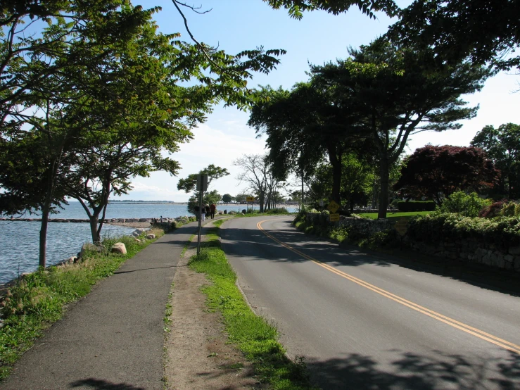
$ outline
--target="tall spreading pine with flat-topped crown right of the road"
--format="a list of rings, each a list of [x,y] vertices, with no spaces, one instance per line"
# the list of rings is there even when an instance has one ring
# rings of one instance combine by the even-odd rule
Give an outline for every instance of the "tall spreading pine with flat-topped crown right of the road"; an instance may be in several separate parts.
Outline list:
[[[457,121],[473,118],[477,107],[467,107],[460,96],[480,90],[489,73],[467,62],[436,68],[432,51],[412,51],[383,39],[350,49],[350,55],[313,67],[312,73],[361,106],[362,125],[379,150],[378,218],[386,218],[389,170],[410,134],[455,130],[462,126]]]

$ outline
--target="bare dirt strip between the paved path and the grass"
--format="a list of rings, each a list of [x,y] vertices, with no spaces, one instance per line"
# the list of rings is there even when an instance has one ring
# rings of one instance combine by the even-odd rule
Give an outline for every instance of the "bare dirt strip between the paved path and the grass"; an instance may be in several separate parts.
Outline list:
[[[165,336],[167,389],[264,388],[253,376],[251,363],[227,344],[220,313],[210,312],[205,305],[201,287],[210,282],[187,266],[195,254],[196,243],[192,243],[179,260],[173,280],[172,323]]]

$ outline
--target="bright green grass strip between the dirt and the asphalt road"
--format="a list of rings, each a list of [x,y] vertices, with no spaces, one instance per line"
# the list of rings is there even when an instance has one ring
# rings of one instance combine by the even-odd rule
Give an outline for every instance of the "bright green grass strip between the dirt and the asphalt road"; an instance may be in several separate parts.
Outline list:
[[[208,296],[208,307],[222,313],[229,341],[253,362],[262,382],[273,389],[316,389],[310,384],[303,358],[295,363],[286,356],[284,347],[277,341],[277,329],[253,313],[236,286],[236,274],[220,249],[217,235],[223,222],[214,222],[215,227],[206,234],[201,253],[189,261],[191,269],[205,273],[212,282],[202,289]]]

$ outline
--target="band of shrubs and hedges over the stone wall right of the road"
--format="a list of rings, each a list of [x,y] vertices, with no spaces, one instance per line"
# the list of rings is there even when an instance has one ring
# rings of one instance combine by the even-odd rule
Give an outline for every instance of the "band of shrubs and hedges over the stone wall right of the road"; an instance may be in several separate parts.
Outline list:
[[[505,252],[511,247],[520,246],[520,203],[505,200],[493,202],[490,199],[482,199],[475,192],[454,192],[433,211],[388,213],[387,220],[406,220],[404,239],[399,236],[393,225],[374,234],[364,234],[355,225],[330,222],[328,212],[315,212],[312,213],[312,218],[307,218],[309,213],[312,213],[312,210],[304,210],[296,215],[293,224],[301,231],[339,243],[367,246],[370,249],[401,247],[403,242],[421,242],[437,246],[440,243],[459,240],[474,244],[485,243]],[[377,213],[364,213],[353,217],[376,220]]]

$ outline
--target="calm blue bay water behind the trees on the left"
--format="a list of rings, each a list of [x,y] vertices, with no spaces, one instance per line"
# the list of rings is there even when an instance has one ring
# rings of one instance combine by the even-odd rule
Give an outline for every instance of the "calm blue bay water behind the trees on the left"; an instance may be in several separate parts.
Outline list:
[[[217,210],[240,211],[245,205],[217,206]],[[256,207],[258,208],[258,206]],[[293,209],[289,209],[293,211]],[[106,218],[177,218],[189,215],[186,205],[172,203],[110,203]],[[26,218],[39,218],[27,215]],[[78,202],[70,202],[65,210],[51,218],[87,219],[87,213]],[[38,267],[40,222],[0,221],[0,284],[32,272]],[[134,228],[103,225],[101,236],[120,237],[131,234]],[[88,223],[49,223],[47,234],[47,264],[59,263],[80,251],[91,242]]]

